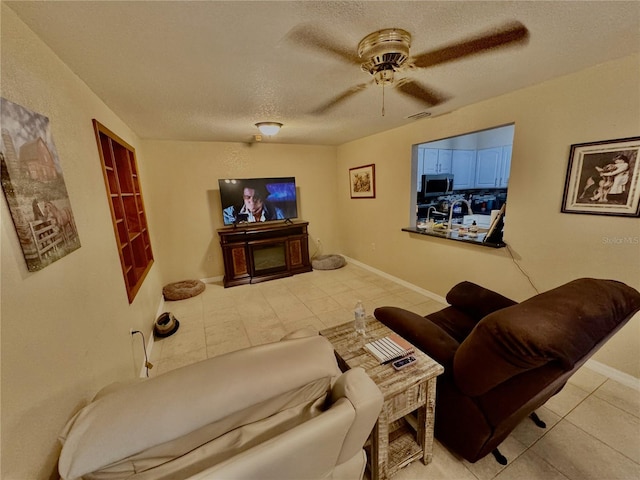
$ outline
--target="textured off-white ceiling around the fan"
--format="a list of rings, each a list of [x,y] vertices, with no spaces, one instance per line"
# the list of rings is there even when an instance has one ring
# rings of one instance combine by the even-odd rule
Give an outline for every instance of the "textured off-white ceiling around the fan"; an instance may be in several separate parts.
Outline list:
[[[7,3],[140,137],[339,145],[566,75],[640,49],[640,2],[618,1],[56,1]],[[311,112],[369,74],[293,41],[317,31],[356,54],[402,28],[417,54],[517,20],[530,41],[410,72],[450,100],[433,108],[370,86]],[[630,74],[636,74],[630,72]]]

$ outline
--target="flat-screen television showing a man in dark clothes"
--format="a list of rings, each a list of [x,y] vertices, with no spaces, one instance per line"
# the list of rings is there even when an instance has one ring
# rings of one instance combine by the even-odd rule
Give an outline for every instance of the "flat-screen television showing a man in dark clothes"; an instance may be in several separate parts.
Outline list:
[[[295,177],[219,179],[225,225],[298,217]]]

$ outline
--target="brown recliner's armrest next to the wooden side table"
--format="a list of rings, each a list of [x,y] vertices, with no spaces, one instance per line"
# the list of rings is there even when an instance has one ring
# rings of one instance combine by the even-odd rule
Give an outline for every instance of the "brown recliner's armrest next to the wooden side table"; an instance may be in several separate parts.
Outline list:
[[[373,315],[442,365],[445,372],[450,369],[460,344],[431,320],[399,307],[379,307]]]

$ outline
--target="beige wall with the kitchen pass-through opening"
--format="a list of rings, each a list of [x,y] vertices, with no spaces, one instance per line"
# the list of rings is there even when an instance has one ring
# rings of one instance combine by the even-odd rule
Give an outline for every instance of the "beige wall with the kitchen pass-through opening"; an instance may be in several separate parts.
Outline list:
[[[540,291],[578,277],[612,278],[640,289],[638,218],[560,213],[570,145],[639,134],[639,73],[638,57],[628,57],[340,146],[343,253],[439,295],[470,280],[525,299],[535,291],[515,262]],[[509,249],[402,232],[409,225],[411,145],[511,122]],[[375,200],[350,200],[347,170],[371,161]],[[638,339],[640,315],[595,359],[640,377]]]

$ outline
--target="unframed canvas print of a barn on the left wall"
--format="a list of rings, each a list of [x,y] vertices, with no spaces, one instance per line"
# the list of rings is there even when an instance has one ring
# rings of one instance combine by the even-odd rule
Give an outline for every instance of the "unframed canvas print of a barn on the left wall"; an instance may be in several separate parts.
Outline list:
[[[49,119],[0,98],[2,190],[27,270],[80,248]]]

